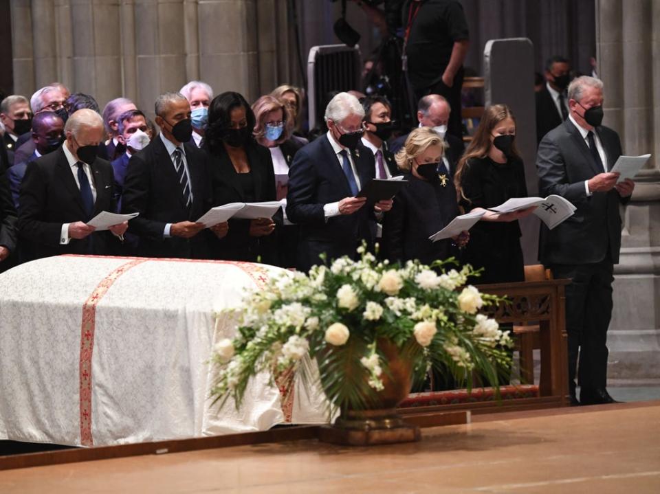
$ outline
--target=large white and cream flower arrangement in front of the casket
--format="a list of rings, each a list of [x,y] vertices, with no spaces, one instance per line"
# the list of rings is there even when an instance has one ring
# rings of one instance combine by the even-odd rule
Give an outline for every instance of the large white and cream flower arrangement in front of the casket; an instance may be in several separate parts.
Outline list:
[[[400,266],[377,260],[364,247],[358,252],[360,260],[339,258],[309,275],[283,273],[248,293],[243,308],[217,315],[237,317],[239,327],[233,340],[214,348],[215,401],[233,396],[238,407],[252,376],[293,369],[306,384],[320,379],[332,405],[367,408],[389,372],[379,339],[410,359],[416,379],[439,368],[468,388],[473,372],[497,385],[511,339],[494,319],[478,313],[498,299],[465,286],[477,274],[470,266],[447,271],[451,260]],[[316,359],[318,373],[307,355]]]

